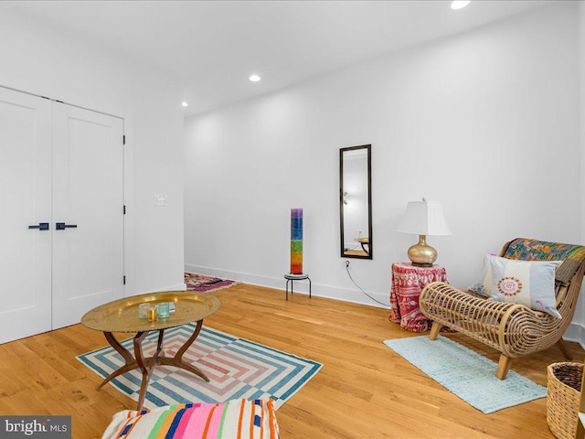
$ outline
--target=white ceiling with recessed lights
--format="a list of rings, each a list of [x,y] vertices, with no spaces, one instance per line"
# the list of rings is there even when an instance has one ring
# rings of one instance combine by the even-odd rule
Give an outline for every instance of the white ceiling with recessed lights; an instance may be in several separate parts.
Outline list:
[[[440,0],[18,1],[10,6],[175,76],[184,85],[190,115],[547,3],[475,0],[459,11]],[[251,73],[262,80],[250,82]]]

